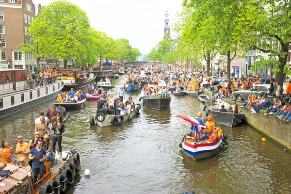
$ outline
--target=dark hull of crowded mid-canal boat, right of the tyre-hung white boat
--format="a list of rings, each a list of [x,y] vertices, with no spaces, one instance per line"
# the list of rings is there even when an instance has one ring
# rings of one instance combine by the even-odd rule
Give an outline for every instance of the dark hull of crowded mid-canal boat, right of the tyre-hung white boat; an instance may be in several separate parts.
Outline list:
[[[143,106],[162,111],[170,108],[171,99],[160,95],[148,95],[143,98]]]

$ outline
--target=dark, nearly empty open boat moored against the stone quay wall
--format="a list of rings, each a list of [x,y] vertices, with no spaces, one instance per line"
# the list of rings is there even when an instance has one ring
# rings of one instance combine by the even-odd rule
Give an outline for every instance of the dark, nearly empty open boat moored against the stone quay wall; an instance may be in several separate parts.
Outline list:
[[[228,111],[230,104],[224,101],[212,101],[208,100],[205,103],[203,111],[206,112],[206,116],[212,115],[213,121],[218,124],[226,125],[228,127],[235,127],[240,125],[242,119],[244,118],[243,113],[231,113],[231,112],[220,112],[221,105],[225,106],[225,109]]]

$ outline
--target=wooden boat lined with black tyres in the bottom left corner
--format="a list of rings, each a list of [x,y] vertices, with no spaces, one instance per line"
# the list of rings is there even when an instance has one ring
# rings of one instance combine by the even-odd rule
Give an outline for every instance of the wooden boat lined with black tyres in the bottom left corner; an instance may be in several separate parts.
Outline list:
[[[56,154],[56,158],[58,155]],[[0,179],[0,194],[60,194],[74,184],[76,173],[81,170],[80,156],[75,150],[63,151],[63,159],[53,165],[44,161],[44,177],[33,184],[32,172],[7,164],[1,172],[7,175]]]

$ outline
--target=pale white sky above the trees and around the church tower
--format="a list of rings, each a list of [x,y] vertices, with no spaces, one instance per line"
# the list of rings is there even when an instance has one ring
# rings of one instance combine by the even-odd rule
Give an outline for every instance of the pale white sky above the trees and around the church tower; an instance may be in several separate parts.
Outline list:
[[[33,0],[46,6],[55,0]],[[114,40],[129,39],[133,48],[149,53],[163,38],[165,11],[173,37],[174,19],[183,0],[67,0],[87,13],[91,27],[106,32]]]

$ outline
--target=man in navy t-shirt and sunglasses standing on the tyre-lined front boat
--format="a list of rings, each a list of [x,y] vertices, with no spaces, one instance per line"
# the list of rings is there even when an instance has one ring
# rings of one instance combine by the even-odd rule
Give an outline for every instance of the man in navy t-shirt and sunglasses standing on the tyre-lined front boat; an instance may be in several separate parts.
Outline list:
[[[42,147],[42,141],[36,141],[36,147],[33,147],[29,153],[29,160],[32,160],[32,175],[33,182],[37,182],[38,170],[40,179],[44,177],[45,164],[44,161],[47,159],[46,149]]]

